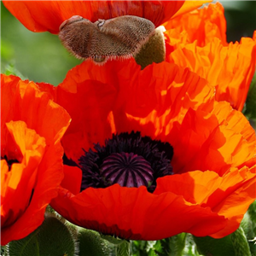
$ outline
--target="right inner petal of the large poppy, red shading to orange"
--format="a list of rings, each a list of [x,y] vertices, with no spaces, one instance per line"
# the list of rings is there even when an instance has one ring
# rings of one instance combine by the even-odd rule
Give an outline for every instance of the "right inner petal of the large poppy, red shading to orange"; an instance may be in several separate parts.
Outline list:
[[[247,125],[245,117],[240,121]],[[214,170],[223,176],[230,167],[252,161],[255,143],[248,143],[240,132],[220,125],[214,115],[190,109],[183,124],[176,124],[166,137],[176,152],[172,160],[174,172]]]

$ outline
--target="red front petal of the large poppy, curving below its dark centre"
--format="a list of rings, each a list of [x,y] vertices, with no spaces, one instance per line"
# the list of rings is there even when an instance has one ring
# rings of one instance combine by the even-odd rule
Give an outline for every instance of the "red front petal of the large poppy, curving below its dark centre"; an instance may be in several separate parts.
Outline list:
[[[172,192],[153,195],[145,187],[118,184],[89,188],[75,196],[61,188],[51,206],[75,224],[133,240],[158,240],[189,232],[194,226],[195,236],[206,236],[206,224],[209,230],[221,230],[226,223],[209,207],[186,202]]]

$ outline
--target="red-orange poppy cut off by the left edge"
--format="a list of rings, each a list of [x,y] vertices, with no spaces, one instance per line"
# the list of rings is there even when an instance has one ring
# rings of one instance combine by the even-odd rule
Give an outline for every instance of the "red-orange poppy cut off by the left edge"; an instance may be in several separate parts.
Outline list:
[[[44,221],[63,178],[65,109],[38,85],[1,75],[0,244],[19,240]]]

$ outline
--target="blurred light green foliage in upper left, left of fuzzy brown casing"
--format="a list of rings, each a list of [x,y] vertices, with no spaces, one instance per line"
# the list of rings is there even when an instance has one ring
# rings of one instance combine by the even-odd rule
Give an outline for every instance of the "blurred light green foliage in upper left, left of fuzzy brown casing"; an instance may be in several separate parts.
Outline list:
[[[70,55],[57,35],[31,32],[0,1],[1,44],[0,72],[8,65],[34,82],[60,84],[67,71],[81,61]]]

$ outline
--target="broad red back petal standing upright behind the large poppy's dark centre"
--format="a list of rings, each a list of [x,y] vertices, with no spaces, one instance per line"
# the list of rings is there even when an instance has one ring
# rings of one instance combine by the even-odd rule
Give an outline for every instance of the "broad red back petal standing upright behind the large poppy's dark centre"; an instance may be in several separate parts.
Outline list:
[[[84,61],[69,71],[55,90],[49,84],[39,85],[73,119],[62,145],[67,157],[75,161],[84,154],[82,148],[88,150],[93,143],[102,144],[111,137],[114,125],[119,132],[136,130],[137,127],[130,127],[125,113],[143,121],[152,115],[154,119],[157,111],[159,122],[165,120],[168,124],[160,125],[159,130],[152,130],[149,125],[143,130],[147,131],[143,135],[155,137],[160,132],[168,133],[174,121],[181,122],[189,108],[211,111],[214,97],[207,81],[188,69],[163,62],[142,71],[132,59],[108,61],[104,66]],[[112,121],[110,114],[114,116]]]

